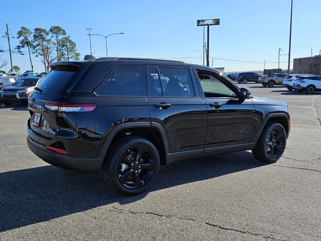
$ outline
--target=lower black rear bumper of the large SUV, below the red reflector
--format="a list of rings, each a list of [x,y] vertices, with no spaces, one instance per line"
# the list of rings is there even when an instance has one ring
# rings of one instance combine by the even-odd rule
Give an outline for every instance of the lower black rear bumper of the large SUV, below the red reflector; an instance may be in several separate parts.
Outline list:
[[[44,145],[38,143],[37,134],[31,129],[27,128],[28,137],[27,144],[29,149],[39,158],[45,162],[54,165],[56,167],[75,170],[75,171],[86,171],[86,172],[98,172],[101,169],[104,157],[98,158],[75,158],[68,155],[61,155],[50,152],[45,149]],[[35,136],[35,139],[33,139]],[[39,137],[38,137],[39,139]]]

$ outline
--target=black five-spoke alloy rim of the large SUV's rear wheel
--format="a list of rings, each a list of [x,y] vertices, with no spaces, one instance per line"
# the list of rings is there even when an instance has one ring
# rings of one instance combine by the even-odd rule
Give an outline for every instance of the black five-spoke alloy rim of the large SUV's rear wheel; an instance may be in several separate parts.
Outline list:
[[[155,165],[149,150],[144,147],[134,147],[120,158],[117,176],[124,187],[137,189],[150,181],[154,169]]]

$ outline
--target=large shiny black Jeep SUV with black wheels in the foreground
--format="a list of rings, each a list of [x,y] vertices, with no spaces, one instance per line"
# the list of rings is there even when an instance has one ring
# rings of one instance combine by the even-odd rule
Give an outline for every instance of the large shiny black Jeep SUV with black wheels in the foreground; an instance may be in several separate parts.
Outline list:
[[[179,61],[57,62],[29,96],[30,150],[57,167],[97,172],[134,195],[159,165],[252,150],[276,162],[290,131],[286,103],[250,96],[213,68]]]

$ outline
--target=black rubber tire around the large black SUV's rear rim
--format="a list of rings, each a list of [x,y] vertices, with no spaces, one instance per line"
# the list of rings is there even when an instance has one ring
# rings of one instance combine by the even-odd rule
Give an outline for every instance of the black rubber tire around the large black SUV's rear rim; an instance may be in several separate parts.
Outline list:
[[[117,170],[118,170],[121,156],[125,152],[127,152],[129,149],[134,148],[134,147],[144,147],[149,150],[149,152],[152,155],[153,161],[154,161],[155,169],[154,169],[151,179],[149,180],[149,182],[146,185],[144,185],[143,187],[138,188],[138,189],[129,189],[129,188],[124,187],[120,183],[120,181],[118,179],[118,175],[117,175]],[[109,170],[110,171],[110,184],[111,184],[112,188],[114,188],[116,191],[121,192],[125,195],[136,195],[136,194],[142,193],[146,189],[148,189],[152,185],[152,183],[154,182],[154,180],[157,176],[157,173],[159,170],[159,163],[160,163],[159,154],[158,154],[156,147],[151,142],[144,140],[144,139],[129,140],[127,143],[122,145],[114,153],[112,160],[106,160],[106,161],[112,162],[112,165],[110,166],[111,169]]]

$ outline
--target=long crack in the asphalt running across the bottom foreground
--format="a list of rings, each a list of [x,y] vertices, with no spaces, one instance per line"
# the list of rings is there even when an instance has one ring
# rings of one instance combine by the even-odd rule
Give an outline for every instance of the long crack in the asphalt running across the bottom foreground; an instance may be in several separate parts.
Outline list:
[[[193,218],[184,218],[184,217],[177,217],[177,216],[171,216],[171,215],[163,215],[163,214],[158,214],[158,213],[153,213],[153,212],[134,212],[134,211],[128,211],[128,210],[124,210],[124,209],[120,209],[120,208],[116,208],[116,207],[112,207],[112,208],[114,210],[113,209],[109,209],[109,211],[111,211],[111,212],[119,212],[119,213],[130,213],[130,214],[148,214],[148,215],[154,215],[154,216],[158,216],[158,217],[176,218],[176,219],[180,219],[180,220],[189,220],[189,221],[194,221],[194,222],[206,224],[206,225],[209,225],[209,226],[212,226],[212,227],[220,228],[222,230],[229,230],[229,231],[235,231],[235,232],[240,232],[240,233],[244,233],[244,234],[261,236],[261,237],[269,238],[269,239],[272,239],[272,240],[284,240],[284,239],[276,239],[276,238],[271,237],[271,236],[265,236],[265,235],[260,234],[260,233],[254,233],[254,232],[239,230],[239,229],[231,228],[231,227],[224,227],[224,226],[221,226],[221,225],[217,225],[217,224],[213,224],[213,223],[209,223],[209,222],[205,222],[205,221],[198,221],[198,220],[193,219]]]

